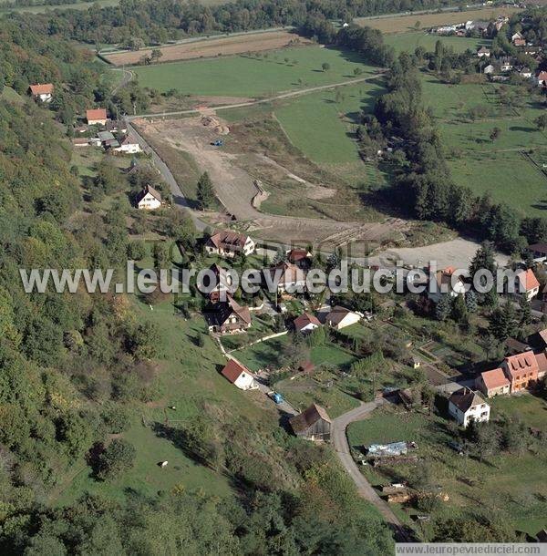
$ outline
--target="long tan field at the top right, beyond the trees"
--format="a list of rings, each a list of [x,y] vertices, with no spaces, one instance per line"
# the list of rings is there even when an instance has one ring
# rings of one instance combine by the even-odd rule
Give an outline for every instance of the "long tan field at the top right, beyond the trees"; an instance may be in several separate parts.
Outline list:
[[[457,25],[473,19],[495,19],[498,15],[511,15],[521,11],[513,7],[485,7],[462,12],[440,12],[436,14],[397,15],[378,18],[357,17],[355,22],[361,26],[374,27],[382,33],[406,33],[416,28],[427,29],[433,26]]]

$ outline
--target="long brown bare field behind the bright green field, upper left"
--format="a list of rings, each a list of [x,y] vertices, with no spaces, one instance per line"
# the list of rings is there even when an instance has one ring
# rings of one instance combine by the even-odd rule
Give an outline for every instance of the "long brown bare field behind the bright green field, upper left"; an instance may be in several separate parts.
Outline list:
[[[161,62],[274,50],[275,48],[282,48],[294,42],[305,45],[310,41],[301,36],[289,33],[288,31],[224,36],[222,38],[212,38],[180,45],[162,46],[160,47],[163,54]],[[143,48],[141,50],[105,55],[105,57],[115,66],[121,66],[123,64],[139,64],[140,59],[144,56],[150,56],[151,52],[151,48]]]

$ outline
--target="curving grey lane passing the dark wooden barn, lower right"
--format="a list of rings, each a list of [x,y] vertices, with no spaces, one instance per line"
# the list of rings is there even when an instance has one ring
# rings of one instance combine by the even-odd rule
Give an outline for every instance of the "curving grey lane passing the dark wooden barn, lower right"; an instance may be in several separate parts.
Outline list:
[[[340,417],[333,420],[332,427],[332,443],[335,448],[340,462],[347,471],[347,474],[356,483],[358,493],[366,500],[371,502],[380,512],[387,525],[395,531],[397,541],[409,541],[408,532],[403,524],[398,520],[397,516],[383,499],[381,499],[377,491],[372,488],[371,484],[365,479],[354,458],[349,451],[349,444],[346,437],[346,428],[350,423],[366,418],[377,407],[386,403],[383,397],[377,398],[373,402],[361,404],[359,407],[348,411]]]

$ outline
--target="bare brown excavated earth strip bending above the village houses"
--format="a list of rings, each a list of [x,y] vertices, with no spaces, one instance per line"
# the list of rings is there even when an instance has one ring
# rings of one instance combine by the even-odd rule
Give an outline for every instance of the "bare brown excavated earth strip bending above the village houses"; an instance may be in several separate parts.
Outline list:
[[[258,190],[253,177],[238,165],[240,156],[249,153],[232,154],[211,145],[216,138],[214,131],[201,124],[201,118],[182,118],[175,120],[150,121],[133,120],[145,137],[162,140],[172,149],[188,152],[198,167],[207,170],[215,184],[216,193],[226,211],[237,221],[244,221],[247,230],[255,236],[278,242],[325,242],[335,246],[348,240],[380,242],[393,232],[393,221],[385,222],[346,222],[309,219],[292,216],[264,214],[253,207],[253,197]],[[255,156],[256,164],[263,164]],[[308,190],[309,189],[309,190]],[[303,184],[303,199],[317,194],[314,186]]]

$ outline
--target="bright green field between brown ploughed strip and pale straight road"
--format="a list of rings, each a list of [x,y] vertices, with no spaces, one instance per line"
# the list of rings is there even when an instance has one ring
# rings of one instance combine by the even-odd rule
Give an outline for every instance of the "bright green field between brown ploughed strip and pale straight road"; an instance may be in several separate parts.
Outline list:
[[[287,58],[288,62],[284,59]],[[330,67],[323,71],[322,65]],[[355,78],[354,70],[374,73],[356,53],[322,46],[274,50],[258,56],[217,57],[135,67],[143,87],[184,95],[267,97],[280,91],[315,87]]]

